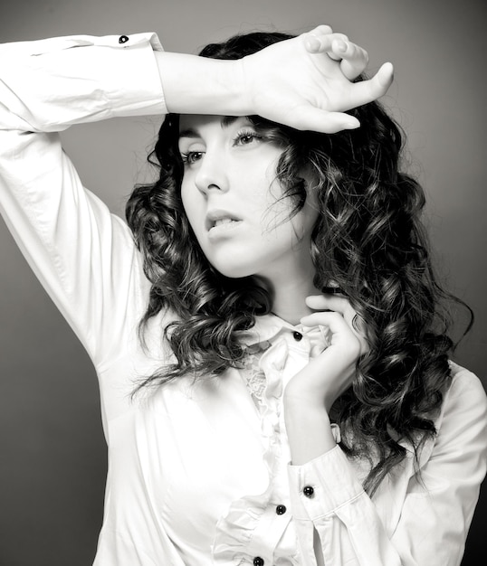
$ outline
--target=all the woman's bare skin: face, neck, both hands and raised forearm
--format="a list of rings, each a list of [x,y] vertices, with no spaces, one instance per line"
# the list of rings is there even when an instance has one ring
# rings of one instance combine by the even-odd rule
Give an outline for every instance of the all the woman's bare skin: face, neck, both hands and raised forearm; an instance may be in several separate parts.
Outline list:
[[[158,53],[156,62],[169,111],[199,115],[181,119],[182,130],[192,132],[180,140],[181,153],[191,156],[182,191],[206,257],[228,277],[267,278],[275,293],[273,310],[283,319],[329,327],[329,347],[291,379],[283,395],[291,460],[304,464],[336,446],[329,409],[349,386],[367,344],[352,324],[356,313],[346,297],[317,294],[313,288],[309,241],[316,208],[311,194],[306,210],[292,222],[270,222],[270,207],[276,219],[286,212],[285,201],[278,201],[280,187],[272,183],[279,148],[252,137],[235,143],[235,131],[222,127],[222,116],[259,115],[324,133],[355,128],[358,120],[346,111],[384,95],[392,65],[385,63],[370,80],[351,82],[365,70],[367,52],[329,26],[239,61]],[[228,232],[223,227],[210,239],[206,214],[212,206],[242,214],[242,224]],[[323,564],[316,533],[315,554]]]

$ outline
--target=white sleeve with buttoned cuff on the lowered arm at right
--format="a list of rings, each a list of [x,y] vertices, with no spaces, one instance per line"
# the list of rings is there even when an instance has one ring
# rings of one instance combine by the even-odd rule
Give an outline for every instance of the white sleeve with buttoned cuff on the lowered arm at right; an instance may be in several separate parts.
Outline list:
[[[376,496],[365,493],[338,446],[303,466],[290,466],[291,507],[306,563],[316,564],[316,529],[327,566],[458,566],[485,476],[486,423],[482,383],[462,369],[445,397],[434,446],[420,457],[419,473],[410,454],[409,465],[381,486],[386,513],[396,516],[390,528],[378,513]]]

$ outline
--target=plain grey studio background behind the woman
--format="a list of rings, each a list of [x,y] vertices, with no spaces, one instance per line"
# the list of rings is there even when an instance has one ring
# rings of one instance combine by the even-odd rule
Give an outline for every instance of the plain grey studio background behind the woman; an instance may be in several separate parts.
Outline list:
[[[456,360],[485,384],[485,14],[482,0],[4,0],[0,41],[155,31],[167,51],[196,52],[240,31],[326,23],[368,49],[372,70],[393,61],[384,102],[408,133],[441,273],[477,316]],[[122,212],[156,131],[149,118],[112,119],[63,138],[84,183]],[[0,262],[0,564],[84,566],[106,473],[95,375],[3,223]],[[486,499],[463,566],[485,549]]]

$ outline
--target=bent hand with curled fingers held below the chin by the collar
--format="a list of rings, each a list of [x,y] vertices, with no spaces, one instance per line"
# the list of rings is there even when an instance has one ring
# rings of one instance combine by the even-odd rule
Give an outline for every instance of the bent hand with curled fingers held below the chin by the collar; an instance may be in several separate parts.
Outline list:
[[[346,297],[316,295],[307,297],[306,304],[318,312],[301,318],[301,324],[326,326],[330,344],[291,379],[284,402],[301,410],[322,410],[324,406],[329,412],[339,395],[349,388],[358,357],[368,351],[365,329]]]

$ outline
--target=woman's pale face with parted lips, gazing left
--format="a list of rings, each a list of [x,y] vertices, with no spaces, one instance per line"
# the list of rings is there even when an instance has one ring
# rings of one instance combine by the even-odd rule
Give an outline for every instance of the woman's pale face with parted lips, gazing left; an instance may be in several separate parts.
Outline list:
[[[181,187],[187,218],[208,261],[230,278],[282,278],[309,269],[318,217],[310,196],[290,219],[274,179],[282,148],[248,118],[181,116]]]

